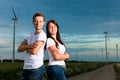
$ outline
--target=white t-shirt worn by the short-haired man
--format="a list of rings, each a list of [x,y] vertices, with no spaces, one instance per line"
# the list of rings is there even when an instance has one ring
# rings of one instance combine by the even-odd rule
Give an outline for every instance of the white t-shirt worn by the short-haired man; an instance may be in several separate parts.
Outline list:
[[[24,60],[24,69],[36,69],[43,65],[44,58],[44,46],[46,43],[46,34],[44,31],[41,31],[39,34],[30,33],[26,38],[27,44],[32,44],[37,40],[44,41],[44,45],[39,49],[37,54],[32,55],[26,53]]]

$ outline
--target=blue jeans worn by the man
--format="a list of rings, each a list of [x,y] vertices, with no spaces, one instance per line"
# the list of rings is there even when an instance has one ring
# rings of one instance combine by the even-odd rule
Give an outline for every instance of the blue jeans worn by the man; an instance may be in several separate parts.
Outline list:
[[[24,69],[22,72],[21,80],[43,80],[44,72],[44,66],[41,66],[37,69]]]

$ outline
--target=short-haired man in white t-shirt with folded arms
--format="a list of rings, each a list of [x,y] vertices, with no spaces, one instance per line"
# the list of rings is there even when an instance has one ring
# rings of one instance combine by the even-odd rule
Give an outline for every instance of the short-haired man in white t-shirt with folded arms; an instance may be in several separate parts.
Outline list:
[[[42,30],[45,17],[42,13],[33,15],[35,32],[30,33],[20,44],[17,51],[26,51],[21,80],[42,80],[45,70],[43,64],[46,34]]]

